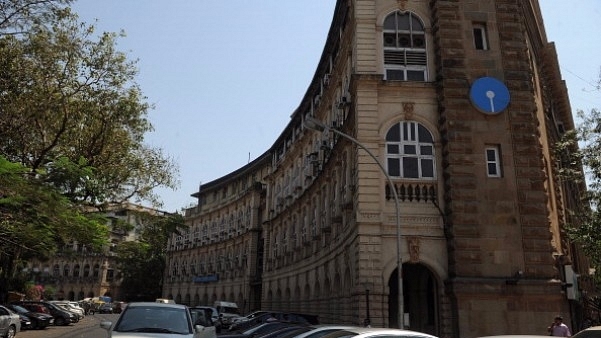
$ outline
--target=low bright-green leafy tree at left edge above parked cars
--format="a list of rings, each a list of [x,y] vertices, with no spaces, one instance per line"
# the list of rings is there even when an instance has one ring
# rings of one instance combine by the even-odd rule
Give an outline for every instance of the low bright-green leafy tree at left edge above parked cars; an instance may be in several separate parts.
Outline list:
[[[58,189],[41,181],[41,176],[0,156],[0,290],[3,293],[25,291],[26,281],[19,274],[22,261],[48,258],[71,241],[95,250],[101,250],[107,243],[106,220],[77,208]]]

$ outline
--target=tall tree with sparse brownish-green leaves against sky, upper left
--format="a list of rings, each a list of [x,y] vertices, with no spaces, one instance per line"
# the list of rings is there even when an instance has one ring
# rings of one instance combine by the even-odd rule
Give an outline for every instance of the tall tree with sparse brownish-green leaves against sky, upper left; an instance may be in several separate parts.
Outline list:
[[[80,203],[134,198],[160,206],[153,189],[175,188],[177,167],[143,142],[153,130],[151,106],[134,81],[135,62],[115,50],[116,34],[93,41],[94,28],[73,14],[48,26],[0,39],[0,137],[7,140],[0,153],[54,172],[60,180],[51,182]],[[94,168],[94,180],[56,174],[59,159]]]

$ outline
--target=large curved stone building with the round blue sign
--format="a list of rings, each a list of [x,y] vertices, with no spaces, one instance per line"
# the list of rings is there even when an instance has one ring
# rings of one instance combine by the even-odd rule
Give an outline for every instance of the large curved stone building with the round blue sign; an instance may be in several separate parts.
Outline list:
[[[164,296],[440,337],[578,327],[571,128],[536,0],[339,0],[273,146],[194,193]]]

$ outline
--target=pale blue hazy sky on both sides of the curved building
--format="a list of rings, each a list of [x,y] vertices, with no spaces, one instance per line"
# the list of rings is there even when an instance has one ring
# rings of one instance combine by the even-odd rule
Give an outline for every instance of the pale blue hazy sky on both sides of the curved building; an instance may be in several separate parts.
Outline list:
[[[163,210],[195,204],[200,183],[257,158],[289,122],[313,77],[335,0],[78,0],[98,32],[125,31],[154,104],[147,142],[180,167]],[[601,1],[539,0],[572,109],[601,108]]]

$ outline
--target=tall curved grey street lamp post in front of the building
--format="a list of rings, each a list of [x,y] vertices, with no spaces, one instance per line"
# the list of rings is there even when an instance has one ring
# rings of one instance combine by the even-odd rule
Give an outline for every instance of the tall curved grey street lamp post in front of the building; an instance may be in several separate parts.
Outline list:
[[[378,160],[378,158],[371,152],[371,150],[367,149],[367,147],[365,147],[361,142],[359,142],[356,138],[341,132],[340,130],[337,129],[331,129],[330,127],[326,126],[324,123],[322,123],[321,121],[313,118],[313,117],[307,117],[305,119],[304,122],[304,126],[307,129],[311,129],[314,131],[320,131],[320,132],[332,132],[334,134],[340,135],[342,137],[344,137],[345,139],[353,142],[354,144],[356,144],[359,148],[365,150],[367,152],[367,154],[369,154],[369,156],[376,162],[376,164],[378,165],[378,167],[380,167],[380,170],[382,171],[382,173],[384,173],[384,175],[386,176],[386,180],[388,181],[388,184],[390,185],[390,190],[392,190],[392,196],[394,197],[394,204],[395,204],[395,208],[396,208],[396,237],[397,237],[397,272],[398,272],[398,304],[399,304],[399,309],[398,309],[398,325],[400,329],[403,329],[405,327],[404,325],[404,306],[403,306],[403,260],[401,257],[401,212],[400,212],[400,207],[399,207],[399,196],[396,192],[396,188],[394,187],[394,183],[392,182],[392,178],[390,177],[390,175],[388,174],[388,172],[386,171],[386,169],[384,168],[384,166],[382,165],[382,163],[380,163],[380,161]]]

